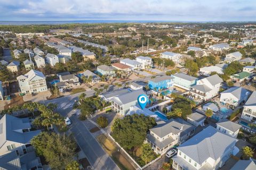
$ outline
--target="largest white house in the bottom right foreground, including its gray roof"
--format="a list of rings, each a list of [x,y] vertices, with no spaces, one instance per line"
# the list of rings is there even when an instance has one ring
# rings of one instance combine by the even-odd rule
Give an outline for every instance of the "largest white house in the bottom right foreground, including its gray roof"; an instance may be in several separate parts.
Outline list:
[[[173,169],[219,169],[233,154],[238,140],[208,126],[182,143],[172,157]]]

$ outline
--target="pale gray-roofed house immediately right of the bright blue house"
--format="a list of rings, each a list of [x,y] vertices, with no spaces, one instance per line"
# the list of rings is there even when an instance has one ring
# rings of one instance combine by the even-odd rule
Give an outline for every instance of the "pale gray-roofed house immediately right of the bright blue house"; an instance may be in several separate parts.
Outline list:
[[[185,90],[190,90],[190,87],[194,86],[198,80],[198,78],[183,73],[173,74],[172,77],[174,79],[174,86]]]

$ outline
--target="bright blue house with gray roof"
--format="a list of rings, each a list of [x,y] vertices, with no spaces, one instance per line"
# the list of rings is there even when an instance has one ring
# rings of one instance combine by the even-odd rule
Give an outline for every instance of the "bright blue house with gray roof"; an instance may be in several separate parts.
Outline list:
[[[148,81],[148,86],[150,89],[158,91],[159,89],[166,89],[173,86],[173,78],[168,75],[162,77],[157,77]]]

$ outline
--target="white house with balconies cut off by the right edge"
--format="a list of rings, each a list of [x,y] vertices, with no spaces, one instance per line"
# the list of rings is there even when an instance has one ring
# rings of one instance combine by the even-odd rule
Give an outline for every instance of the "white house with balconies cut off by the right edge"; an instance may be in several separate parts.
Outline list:
[[[241,118],[246,123],[256,124],[256,91],[253,91],[252,95],[244,104],[244,109]]]

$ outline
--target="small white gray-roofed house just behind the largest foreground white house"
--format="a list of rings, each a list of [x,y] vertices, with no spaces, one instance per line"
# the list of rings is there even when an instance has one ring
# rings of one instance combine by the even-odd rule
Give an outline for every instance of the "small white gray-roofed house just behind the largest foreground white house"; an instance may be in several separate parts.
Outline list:
[[[227,118],[223,118],[216,124],[217,124],[216,129],[219,132],[227,134],[233,138],[237,138],[239,129],[242,127],[242,125],[239,125],[235,122],[231,122],[231,121],[227,120]]]

